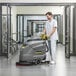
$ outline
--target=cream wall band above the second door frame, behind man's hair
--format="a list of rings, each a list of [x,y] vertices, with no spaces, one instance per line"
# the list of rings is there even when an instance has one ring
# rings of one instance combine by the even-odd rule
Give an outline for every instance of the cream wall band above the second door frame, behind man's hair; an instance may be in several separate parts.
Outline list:
[[[63,7],[61,6],[18,6],[18,14],[45,14],[51,11],[53,14],[63,14]]]

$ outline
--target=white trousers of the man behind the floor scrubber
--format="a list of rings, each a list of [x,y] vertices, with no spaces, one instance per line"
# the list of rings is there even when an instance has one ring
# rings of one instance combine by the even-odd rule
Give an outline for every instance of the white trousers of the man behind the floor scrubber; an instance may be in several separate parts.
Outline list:
[[[46,41],[49,51],[46,53],[46,61],[56,61],[56,40]]]

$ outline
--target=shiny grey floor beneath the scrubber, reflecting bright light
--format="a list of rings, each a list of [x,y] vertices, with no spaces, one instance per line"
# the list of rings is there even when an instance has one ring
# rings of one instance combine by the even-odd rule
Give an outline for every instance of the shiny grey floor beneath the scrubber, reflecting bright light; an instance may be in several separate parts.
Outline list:
[[[16,66],[12,60],[0,58],[0,76],[76,76],[76,57],[65,58],[64,46],[58,45],[56,65]]]

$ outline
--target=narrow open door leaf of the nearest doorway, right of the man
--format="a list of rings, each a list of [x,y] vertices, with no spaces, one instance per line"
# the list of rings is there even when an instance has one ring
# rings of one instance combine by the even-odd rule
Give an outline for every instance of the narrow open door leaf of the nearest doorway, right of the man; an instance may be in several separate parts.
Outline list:
[[[70,6],[65,7],[65,57],[70,58]]]

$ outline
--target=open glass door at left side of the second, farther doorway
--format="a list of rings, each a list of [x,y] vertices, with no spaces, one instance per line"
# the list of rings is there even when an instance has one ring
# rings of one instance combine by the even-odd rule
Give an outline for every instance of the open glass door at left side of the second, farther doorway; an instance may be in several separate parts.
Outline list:
[[[17,39],[18,42],[24,42],[24,16],[17,16]]]

